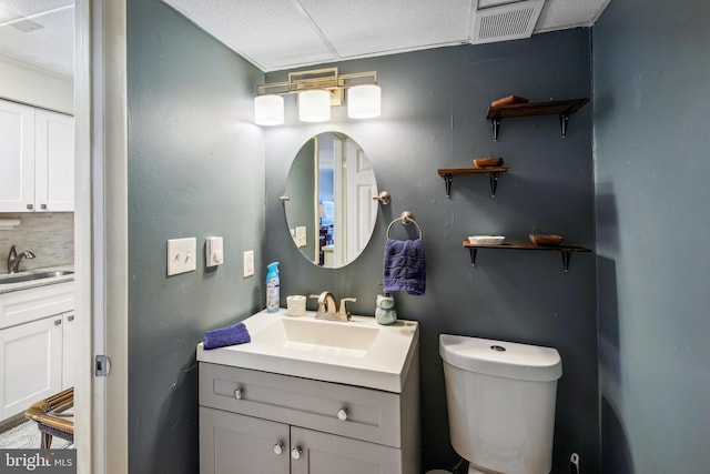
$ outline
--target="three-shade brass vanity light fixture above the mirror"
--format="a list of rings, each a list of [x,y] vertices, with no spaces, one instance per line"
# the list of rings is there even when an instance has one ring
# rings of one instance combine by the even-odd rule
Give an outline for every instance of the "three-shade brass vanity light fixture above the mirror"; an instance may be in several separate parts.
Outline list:
[[[338,74],[337,68],[290,72],[287,81],[268,82],[256,87],[254,121],[257,125],[284,123],[285,94],[298,94],[298,120],[325,122],[331,120],[331,107],[343,105],[347,89],[347,117],[372,119],[381,113],[381,90],[377,71]]]

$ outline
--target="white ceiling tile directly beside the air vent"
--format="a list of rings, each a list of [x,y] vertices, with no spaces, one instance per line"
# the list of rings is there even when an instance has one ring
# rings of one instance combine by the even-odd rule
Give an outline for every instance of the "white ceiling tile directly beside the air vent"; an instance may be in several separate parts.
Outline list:
[[[471,0],[298,0],[343,58],[468,42]]]

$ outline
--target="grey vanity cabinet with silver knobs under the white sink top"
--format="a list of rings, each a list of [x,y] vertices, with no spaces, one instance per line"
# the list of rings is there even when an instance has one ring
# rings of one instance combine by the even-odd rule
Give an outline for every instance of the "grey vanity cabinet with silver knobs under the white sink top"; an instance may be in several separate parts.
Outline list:
[[[402,393],[200,363],[200,472],[419,472],[418,354]]]

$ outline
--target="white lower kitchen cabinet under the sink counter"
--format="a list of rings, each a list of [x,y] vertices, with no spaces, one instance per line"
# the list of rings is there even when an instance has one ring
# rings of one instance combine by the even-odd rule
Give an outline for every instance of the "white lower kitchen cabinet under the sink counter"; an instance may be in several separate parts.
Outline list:
[[[0,420],[73,383],[74,284],[0,294]]]

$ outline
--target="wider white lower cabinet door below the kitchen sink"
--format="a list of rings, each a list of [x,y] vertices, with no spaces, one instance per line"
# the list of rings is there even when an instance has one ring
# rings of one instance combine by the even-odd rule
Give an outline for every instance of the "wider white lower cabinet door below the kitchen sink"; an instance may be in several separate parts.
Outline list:
[[[59,392],[61,370],[61,315],[0,331],[2,420]]]

